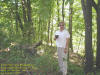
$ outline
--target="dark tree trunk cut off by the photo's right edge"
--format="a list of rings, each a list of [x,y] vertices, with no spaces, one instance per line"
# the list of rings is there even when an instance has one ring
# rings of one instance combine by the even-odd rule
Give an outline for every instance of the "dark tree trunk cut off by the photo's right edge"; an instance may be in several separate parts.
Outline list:
[[[96,53],[96,67],[100,69],[100,0],[96,4],[95,0],[92,0],[92,5],[97,14],[97,53]]]

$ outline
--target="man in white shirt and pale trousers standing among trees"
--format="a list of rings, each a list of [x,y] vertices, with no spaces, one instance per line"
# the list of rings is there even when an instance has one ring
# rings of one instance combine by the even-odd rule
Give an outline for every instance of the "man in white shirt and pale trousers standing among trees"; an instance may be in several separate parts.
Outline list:
[[[57,52],[58,52],[58,63],[60,67],[60,71],[63,75],[67,74],[67,53],[68,53],[68,44],[70,34],[65,29],[65,23],[59,23],[60,29],[55,32],[56,45],[57,45]]]

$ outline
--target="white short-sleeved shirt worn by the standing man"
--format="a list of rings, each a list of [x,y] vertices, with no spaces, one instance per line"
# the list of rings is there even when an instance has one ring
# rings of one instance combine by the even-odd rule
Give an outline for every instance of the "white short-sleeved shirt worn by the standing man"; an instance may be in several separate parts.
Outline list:
[[[66,29],[64,29],[63,31],[58,30],[55,32],[55,35],[59,35],[58,38],[56,39],[57,47],[65,48],[66,39],[70,38],[69,32]]]

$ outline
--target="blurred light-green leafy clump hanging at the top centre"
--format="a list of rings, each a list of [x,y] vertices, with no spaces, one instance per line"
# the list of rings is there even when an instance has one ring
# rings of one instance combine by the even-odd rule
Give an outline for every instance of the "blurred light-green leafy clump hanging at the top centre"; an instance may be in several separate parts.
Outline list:
[[[53,13],[54,10],[54,0],[39,0],[39,10],[38,14],[41,19],[48,19],[50,17],[50,14]]]

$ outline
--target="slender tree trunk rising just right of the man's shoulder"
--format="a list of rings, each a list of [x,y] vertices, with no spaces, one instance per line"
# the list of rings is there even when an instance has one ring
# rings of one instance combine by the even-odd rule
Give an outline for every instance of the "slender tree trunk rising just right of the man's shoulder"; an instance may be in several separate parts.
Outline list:
[[[72,45],[72,17],[73,17],[73,2],[70,2],[69,6],[69,33],[70,33],[70,47],[73,51],[73,45]]]

